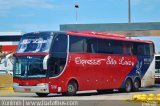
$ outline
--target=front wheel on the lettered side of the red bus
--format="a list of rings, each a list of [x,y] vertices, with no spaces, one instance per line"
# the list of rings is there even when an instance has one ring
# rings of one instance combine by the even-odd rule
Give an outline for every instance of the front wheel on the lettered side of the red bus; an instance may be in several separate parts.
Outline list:
[[[77,92],[77,83],[75,81],[70,81],[67,87],[67,92],[66,95],[67,96],[75,96],[76,92]]]

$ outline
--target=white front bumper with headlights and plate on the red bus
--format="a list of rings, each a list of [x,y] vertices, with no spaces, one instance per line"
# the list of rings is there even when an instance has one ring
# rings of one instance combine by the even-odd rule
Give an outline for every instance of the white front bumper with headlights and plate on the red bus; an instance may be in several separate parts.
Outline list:
[[[15,92],[26,92],[26,93],[49,93],[49,86],[46,83],[37,84],[36,86],[20,86],[14,83],[13,90]]]

